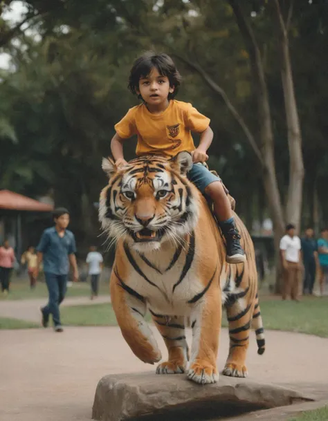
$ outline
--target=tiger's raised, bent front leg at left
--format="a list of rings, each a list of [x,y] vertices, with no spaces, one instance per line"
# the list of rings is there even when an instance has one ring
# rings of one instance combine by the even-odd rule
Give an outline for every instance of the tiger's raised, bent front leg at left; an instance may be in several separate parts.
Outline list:
[[[111,304],[122,335],[132,352],[141,361],[154,364],[161,359],[161,351],[147,325],[145,299],[120,279],[116,269],[111,274]]]

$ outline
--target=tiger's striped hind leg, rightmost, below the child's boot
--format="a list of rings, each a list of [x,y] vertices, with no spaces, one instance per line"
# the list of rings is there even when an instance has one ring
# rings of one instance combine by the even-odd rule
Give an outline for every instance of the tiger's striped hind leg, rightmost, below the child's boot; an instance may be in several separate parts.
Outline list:
[[[223,374],[231,377],[247,376],[245,362],[255,303],[245,302],[245,299],[237,299],[233,305],[226,306],[230,348]]]

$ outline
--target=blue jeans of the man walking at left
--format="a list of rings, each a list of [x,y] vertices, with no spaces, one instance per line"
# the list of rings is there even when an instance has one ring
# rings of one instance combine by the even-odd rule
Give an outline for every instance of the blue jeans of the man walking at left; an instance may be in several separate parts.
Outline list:
[[[56,275],[50,272],[44,272],[46,277],[46,286],[49,292],[48,304],[42,308],[46,317],[53,315],[53,324],[60,325],[60,303],[66,294],[67,275]]]

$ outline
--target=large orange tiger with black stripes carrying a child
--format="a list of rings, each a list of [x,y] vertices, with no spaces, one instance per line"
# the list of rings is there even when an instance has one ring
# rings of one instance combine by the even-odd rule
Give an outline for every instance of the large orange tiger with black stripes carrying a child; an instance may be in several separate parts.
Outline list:
[[[111,305],[132,352],[145,363],[159,362],[158,374],[185,373],[194,382],[211,384],[219,379],[222,309],[230,337],[224,375],[246,377],[250,327],[259,355],[265,349],[264,328],[250,235],[234,212],[246,263],[226,263],[215,217],[186,177],[191,167],[192,157],[184,151],[170,160],[140,156],[122,168],[104,158],[109,183],[100,193],[99,220],[105,236],[116,242]],[[145,321],[147,310],[167,346],[165,362]]]

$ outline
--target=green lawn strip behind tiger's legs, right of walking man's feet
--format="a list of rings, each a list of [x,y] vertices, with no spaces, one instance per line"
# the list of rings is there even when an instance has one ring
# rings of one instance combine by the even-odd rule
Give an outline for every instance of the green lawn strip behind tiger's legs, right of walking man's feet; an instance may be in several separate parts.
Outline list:
[[[304,297],[302,302],[264,298],[260,301],[265,329],[289,330],[328,337],[328,297]],[[62,307],[62,321],[73,326],[117,326],[109,303]],[[149,315],[147,320],[150,320]],[[223,326],[227,326],[224,317]]]

